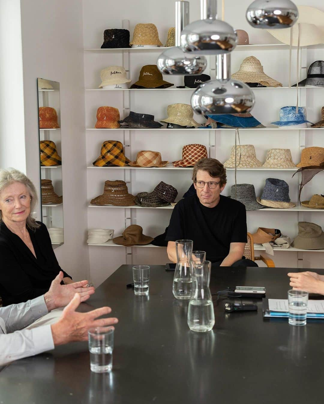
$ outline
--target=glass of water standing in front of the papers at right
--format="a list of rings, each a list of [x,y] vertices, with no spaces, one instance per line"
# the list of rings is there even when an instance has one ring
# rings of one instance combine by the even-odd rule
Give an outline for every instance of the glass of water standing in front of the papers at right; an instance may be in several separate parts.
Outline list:
[[[305,326],[307,317],[308,293],[303,290],[288,290],[289,324]]]

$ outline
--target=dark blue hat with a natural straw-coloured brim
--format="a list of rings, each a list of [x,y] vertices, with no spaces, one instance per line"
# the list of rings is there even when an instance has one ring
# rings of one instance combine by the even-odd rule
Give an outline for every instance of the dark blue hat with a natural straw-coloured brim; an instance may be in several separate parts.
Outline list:
[[[293,208],[295,203],[290,202],[289,185],[286,181],[277,178],[267,178],[259,204],[269,208]]]

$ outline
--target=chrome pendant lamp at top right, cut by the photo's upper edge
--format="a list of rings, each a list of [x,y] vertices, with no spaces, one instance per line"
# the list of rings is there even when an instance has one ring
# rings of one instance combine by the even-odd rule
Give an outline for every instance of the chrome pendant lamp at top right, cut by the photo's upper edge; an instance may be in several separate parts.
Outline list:
[[[252,27],[265,29],[292,27],[298,16],[298,8],[290,0],[255,0],[246,11]]]

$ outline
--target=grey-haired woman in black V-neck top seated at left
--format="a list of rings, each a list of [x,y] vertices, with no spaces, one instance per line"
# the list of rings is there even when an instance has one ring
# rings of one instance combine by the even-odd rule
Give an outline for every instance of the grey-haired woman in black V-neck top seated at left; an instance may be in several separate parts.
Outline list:
[[[18,170],[0,170],[0,296],[2,305],[43,295],[63,271],[46,226],[33,219],[34,184]],[[63,282],[72,278],[63,271]]]

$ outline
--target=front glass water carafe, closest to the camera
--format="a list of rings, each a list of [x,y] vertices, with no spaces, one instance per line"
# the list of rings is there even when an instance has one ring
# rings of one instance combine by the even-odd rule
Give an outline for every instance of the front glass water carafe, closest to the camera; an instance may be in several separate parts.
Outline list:
[[[192,331],[207,332],[215,324],[214,306],[209,289],[210,261],[191,263],[192,292],[188,306],[188,326]]]

